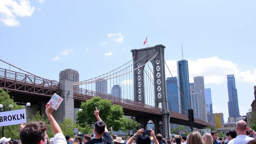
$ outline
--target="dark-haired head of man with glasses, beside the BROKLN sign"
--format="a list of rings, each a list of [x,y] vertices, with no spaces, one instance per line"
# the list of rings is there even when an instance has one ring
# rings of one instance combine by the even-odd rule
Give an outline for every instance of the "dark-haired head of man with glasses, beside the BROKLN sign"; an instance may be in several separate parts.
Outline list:
[[[43,121],[31,121],[20,130],[22,144],[47,144],[47,125]]]

